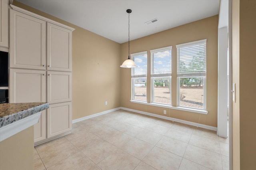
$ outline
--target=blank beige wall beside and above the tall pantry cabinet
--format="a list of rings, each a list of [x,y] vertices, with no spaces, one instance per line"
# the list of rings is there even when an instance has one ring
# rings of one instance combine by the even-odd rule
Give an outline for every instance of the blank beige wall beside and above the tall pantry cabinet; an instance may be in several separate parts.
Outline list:
[[[73,120],[120,107],[119,43],[20,2],[14,1],[13,5],[76,29],[72,38]]]

